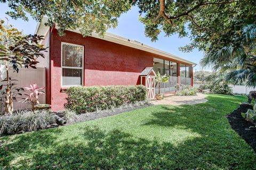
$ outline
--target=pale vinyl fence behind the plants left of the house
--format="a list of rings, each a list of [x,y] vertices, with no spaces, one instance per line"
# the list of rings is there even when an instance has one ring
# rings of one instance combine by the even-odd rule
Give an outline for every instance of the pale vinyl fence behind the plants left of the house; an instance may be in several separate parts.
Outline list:
[[[45,68],[37,68],[37,69],[25,69],[22,68],[19,70],[19,73],[10,71],[10,77],[12,77],[12,80],[18,80],[13,81],[17,83],[15,87],[30,87],[30,84],[36,83],[37,87],[45,87]],[[0,82],[0,84],[3,84],[4,82]],[[3,87],[5,88],[5,87]],[[42,90],[45,92],[45,90]],[[25,92],[23,92],[25,93]],[[17,96],[17,101],[13,103],[14,109],[25,109],[30,108],[30,105],[26,103],[21,102],[21,97]],[[23,96],[25,97],[25,96]],[[19,102],[20,101],[20,102]],[[39,96],[39,102],[41,104],[45,104],[45,95]],[[0,107],[1,111],[3,111],[4,107],[3,105]]]

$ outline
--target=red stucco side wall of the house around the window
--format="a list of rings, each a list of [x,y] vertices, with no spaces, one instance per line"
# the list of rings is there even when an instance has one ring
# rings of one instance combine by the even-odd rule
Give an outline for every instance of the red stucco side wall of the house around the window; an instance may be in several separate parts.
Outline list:
[[[61,42],[84,46],[84,86],[135,85],[145,67],[153,66],[153,58],[160,57],[139,49],[111,43],[66,31],[51,36],[51,105],[53,111],[63,110],[66,94],[61,92]],[[169,59],[170,60],[170,59]]]

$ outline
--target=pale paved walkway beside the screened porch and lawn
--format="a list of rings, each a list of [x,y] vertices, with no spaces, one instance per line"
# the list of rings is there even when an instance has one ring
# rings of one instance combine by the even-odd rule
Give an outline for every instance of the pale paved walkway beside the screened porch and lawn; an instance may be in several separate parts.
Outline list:
[[[169,95],[164,97],[162,100],[152,100],[153,105],[195,105],[199,103],[204,103],[206,95],[198,93],[197,96],[175,96]]]

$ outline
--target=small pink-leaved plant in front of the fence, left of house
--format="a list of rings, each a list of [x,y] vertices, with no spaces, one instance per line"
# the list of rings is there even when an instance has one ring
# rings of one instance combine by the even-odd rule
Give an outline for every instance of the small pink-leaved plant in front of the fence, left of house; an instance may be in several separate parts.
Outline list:
[[[29,94],[25,94],[27,96],[26,98],[23,98],[23,102],[30,103],[32,106],[32,110],[35,111],[36,104],[39,104],[38,97],[39,95],[44,95],[45,93],[41,90],[43,90],[44,87],[38,88],[37,84],[30,84],[30,87],[25,87],[24,90],[29,91]]]

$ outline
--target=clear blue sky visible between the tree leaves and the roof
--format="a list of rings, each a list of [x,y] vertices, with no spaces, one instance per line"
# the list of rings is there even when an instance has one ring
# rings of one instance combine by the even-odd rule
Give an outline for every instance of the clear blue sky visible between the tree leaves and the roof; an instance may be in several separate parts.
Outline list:
[[[7,11],[10,11],[10,8],[7,6],[7,4],[0,3],[0,19],[5,19],[5,17],[7,17],[9,19],[9,23],[12,24],[15,28],[19,29],[20,31],[22,30],[25,34],[34,34],[37,24],[35,20],[33,20],[31,17],[29,17],[28,22],[21,19],[13,20],[9,15],[5,14]],[[118,19],[118,26],[115,29],[109,29],[107,32],[139,41],[143,44],[161,49],[188,61],[197,63],[197,66],[194,67],[194,71],[202,70],[202,67],[199,65],[199,61],[203,57],[203,52],[199,52],[197,49],[195,49],[193,52],[183,53],[179,50],[179,47],[190,43],[189,38],[179,38],[178,35],[165,37],[164,33],[162,32],[156,42],[151,42],[150,38],[145,36],[144,25],[139,21],[138,11],[138,7],[132,7],[130,11],[122,14]]]

